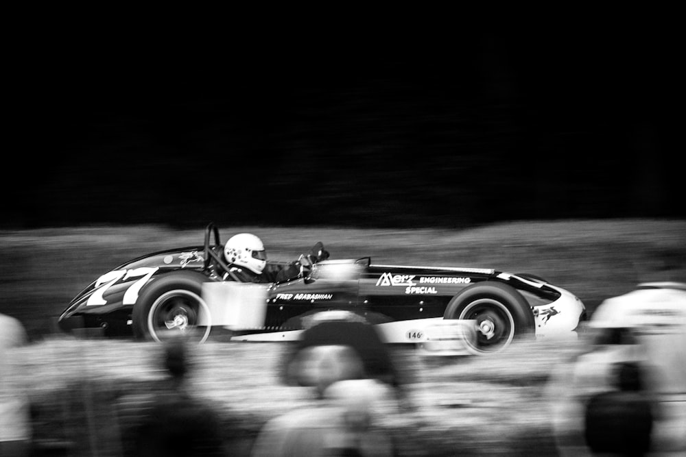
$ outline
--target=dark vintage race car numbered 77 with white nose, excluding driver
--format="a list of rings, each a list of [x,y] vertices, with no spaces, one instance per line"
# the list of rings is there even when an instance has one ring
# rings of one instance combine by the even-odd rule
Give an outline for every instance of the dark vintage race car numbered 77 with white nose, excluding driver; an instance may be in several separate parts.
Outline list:
[[[574,337],[584,316],[577,297],[533,275],[327,260],[322,252],[318,243],[296,262],[268,262],[264,284],[237,284],[211,224],[202,247],[156,252],[97,278],[71,301],[60,326],[143,339],[196,327],[206,338],[224,327],[235,340],[289,341],[322,319],[344,316],[377,325],[389,343],[426,343],[445,331],[445,321],[461,321],[475,332],[473,351],[489,354],[520,336]],[[250,310],[250,319],[239,322],[230,304]]]

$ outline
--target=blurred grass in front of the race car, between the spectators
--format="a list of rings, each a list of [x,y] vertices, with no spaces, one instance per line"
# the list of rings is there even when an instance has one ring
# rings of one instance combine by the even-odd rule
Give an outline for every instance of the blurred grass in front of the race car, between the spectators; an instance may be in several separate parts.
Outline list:
[[[239,455],[266,421],[317,401],[310,387],[283,384],[287,345],[210,341],[188,349],[188,386],[216,408]],[[407,402],[381,426],[400,455],[554,455],[545,383],[578,349],[522,343],[488,358],[394,350]],[[36,455],[121,456],[127,427],[167,385],[156,343],[50,338],[12,349],[8,360],[12,388],[32,406],[32,440],[43,449]]]

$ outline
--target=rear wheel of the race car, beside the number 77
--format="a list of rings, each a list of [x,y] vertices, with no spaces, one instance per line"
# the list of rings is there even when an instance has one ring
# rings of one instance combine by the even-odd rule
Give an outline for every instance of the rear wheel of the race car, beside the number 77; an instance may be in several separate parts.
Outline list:
[[[203,275],[184,271],[150,282],[133,308],[134,337],[158,343],[181,337],[204,343],[211,330],[209,325],[198,326],[200,312],[209,317],[209,308],[201,293],[205,281]]]

